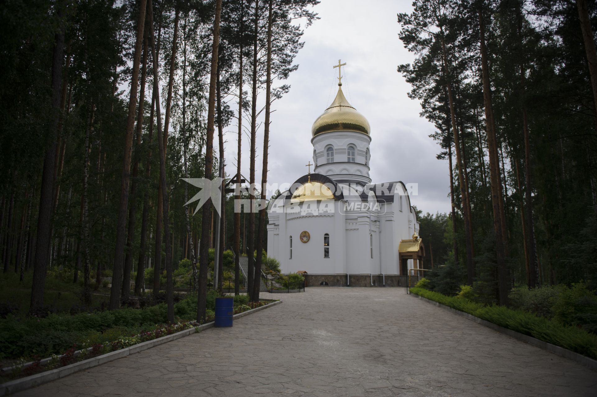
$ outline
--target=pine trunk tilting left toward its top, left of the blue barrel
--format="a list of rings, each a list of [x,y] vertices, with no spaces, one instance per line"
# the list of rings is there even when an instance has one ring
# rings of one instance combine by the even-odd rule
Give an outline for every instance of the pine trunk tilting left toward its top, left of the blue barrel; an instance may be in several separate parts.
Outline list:
[[[149,26],[153,26],[153,7],[152,0],[147,1],[147,7],[149,9]],[[158,56],[155,45],[155,38],[153,37],[153,29],[149,30],[149,39],[152,47],[153,56],[153,82],[155,96],[155,110],[156,118],[158,119],[158,144],[159,144],[159,169],[160,169],[160,180],[159,183],[162,186],[162,201],[163,201],[163,218],[164,218],[164,235],[166,245],[166,303],[168,307],[168,322],[174,322],[174,288],[172,281],[172,251],[170,250],[170,220],[168,219],[168,190],[166,189],[166,153],[165,144],[162,137],[162,116],[159,107],[159,87],[158,87],[158,68],[155,67],[158,64]],[[157,263],[156,263],[157,265]]]

